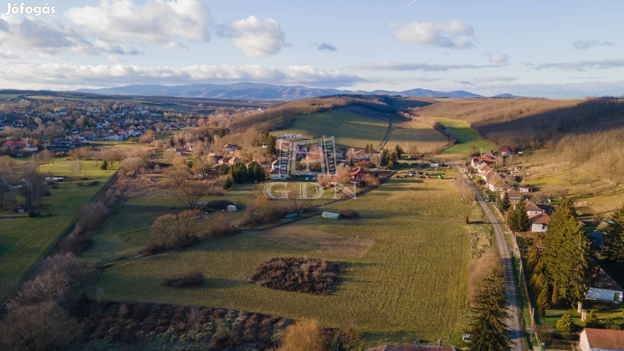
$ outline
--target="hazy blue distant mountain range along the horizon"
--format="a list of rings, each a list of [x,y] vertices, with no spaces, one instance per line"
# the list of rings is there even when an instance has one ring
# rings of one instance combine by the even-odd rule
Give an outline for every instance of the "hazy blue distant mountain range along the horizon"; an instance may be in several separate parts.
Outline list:
[[[319,97],[336,94],[389,94],[422,97],[483,97],[468,91],[434,91],[429,89],[409,89],[406,91],[349,91],[338,89],[321,89],[304,86],[281,86],[241,82],[235,84],[188,84],[183,86],[130,85],[102,89],[79,89],[79,92],[90,92],[104,95],[143,95],[172,97],[201,97],[204,99],[235,99],[235,100],[296,100],[308,97]],[[511,94],[500,94],[496,97],[516,97]]]

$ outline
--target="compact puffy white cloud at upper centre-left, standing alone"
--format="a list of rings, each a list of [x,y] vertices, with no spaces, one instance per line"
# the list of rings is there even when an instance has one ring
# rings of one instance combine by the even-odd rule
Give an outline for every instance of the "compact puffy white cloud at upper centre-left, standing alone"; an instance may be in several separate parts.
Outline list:
[[[232,40],[248,57],[264,57],[280,52],[286,46],[285,34],[275,19],[260,21],[256,16],[218,24],[217,35]]]

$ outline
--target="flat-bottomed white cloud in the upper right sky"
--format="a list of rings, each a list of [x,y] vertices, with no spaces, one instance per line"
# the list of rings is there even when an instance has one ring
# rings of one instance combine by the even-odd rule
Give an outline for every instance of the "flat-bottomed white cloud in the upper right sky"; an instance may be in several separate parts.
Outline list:
[[[392,35],[401,42],[415,45],[468,49],[474,46],[474,29],[459,19],[446,23],[391,23]]]

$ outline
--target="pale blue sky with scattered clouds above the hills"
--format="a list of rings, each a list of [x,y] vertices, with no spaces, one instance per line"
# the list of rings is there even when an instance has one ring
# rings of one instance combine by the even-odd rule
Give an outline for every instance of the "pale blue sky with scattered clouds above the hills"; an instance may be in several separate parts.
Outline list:
[[[0,88],[250,81],[624,94],[621,0],[47,3],[54,14],[6,15],[7,2],[0,4]],[[24,9],[44,4],[26,1]]]

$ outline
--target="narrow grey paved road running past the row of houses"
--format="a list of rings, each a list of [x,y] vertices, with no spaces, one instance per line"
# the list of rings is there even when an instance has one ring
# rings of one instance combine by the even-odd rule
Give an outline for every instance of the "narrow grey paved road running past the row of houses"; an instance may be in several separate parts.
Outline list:
[[[487,206],[485,199],[483,198],[481,193],[477,191],[474,183],[472,183],[472,180],[470,180],[468,175],[463,175],[464,180],[466,180],[467,184],[469,184],[470,187],[472,187],[472,190],[474,190],[476,194],[476,199],[477,201],[479,201],[483,212],[485,212],[485,217],[490,223],[492,223],[492,227],[494,228],[496,246],[503,262],[503,274],[505,275],[505,294],[507,294],[507,301],[509,302],[509,314],[511,315],[511,318],[507,319],[507,325],[511,330],[509,334],[509,339],[511,339],[513,342],[512,350],[523,351],[522,340],[520,339],[520,311],[518,309],[518,299],[515,290],[516,283],[514,279],[514,269],[512,267],[511,255],[509,254],[510,250],[513,249],[510,249],[509,246],[507,246],[505,233],[500,228],[500,225],[498,224],[499,220],[497,219],[496,215],[494,215],[494,213],[492,213],[492,210],[490,210],[490,208]]]

